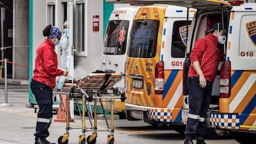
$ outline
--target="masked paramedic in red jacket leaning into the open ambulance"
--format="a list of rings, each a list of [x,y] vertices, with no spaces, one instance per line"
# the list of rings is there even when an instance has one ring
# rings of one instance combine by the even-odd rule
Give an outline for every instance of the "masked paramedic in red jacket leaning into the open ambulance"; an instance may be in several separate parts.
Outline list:
[[[196,137],[197,144],[205,143],[206,112],[220,61],[218,43],[223,44],[225,41],[222,23],[215,23],[207,33],[206,37],[196,41],[190,55],[191,66],[188,70],[187,82],[190,111],[185,131],[185,144],[193,144],[194,137]]]

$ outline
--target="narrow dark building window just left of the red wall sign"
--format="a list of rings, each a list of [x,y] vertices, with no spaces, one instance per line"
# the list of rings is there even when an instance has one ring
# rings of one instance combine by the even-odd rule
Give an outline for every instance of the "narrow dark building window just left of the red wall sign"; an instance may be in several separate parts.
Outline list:
[[[85,3],[75,4],[75,40],[74,45],[78,55],[85,55]]]

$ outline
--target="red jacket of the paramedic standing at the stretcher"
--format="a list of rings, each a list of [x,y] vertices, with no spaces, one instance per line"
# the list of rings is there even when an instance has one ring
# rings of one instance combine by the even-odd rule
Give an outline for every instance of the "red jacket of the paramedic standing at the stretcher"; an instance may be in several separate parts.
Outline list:
[[[51,40],[44,40],[36,50],[35,69],[32,79],[55,87],[56,76],[62,75],[63,70],[58,69],[57,54],[54,51],[54,44]]]

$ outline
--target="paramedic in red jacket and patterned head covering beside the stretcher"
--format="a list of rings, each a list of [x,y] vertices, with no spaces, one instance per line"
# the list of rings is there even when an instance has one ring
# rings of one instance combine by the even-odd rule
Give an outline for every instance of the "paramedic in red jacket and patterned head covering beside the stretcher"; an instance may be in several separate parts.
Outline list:
[[[50,143],[46,140],[49,136],[48,128],[53,118],[53,88],[55,78],[60,75],[67,75],[67,71],[58,69],[57,54],[55,45],[58,45],[61,31],[56,26],[48,25],[43,30],[46,40],[36,50],[35,69],[31,79],[31,91],[36,97],[39,106],[38,118],[36,121],[35,144]]]

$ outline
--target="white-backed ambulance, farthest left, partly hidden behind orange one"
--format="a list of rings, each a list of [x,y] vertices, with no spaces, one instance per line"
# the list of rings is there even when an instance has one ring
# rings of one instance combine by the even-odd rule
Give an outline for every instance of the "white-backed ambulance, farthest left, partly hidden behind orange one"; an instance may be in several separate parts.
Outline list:
[[[124,63],[129,43],[129,33],[134,15],[139,6],[125,6],[115,8],[109,18],[104,38],[102,54],[102,70],[124,74]],[[114,87],[124,92],[124,79]],[[110,102],[103,104],[103,108],[110,111]],[[114,100],[115,113],[124,112],[124,102]],[[121,116],[121,115],[120,115]]]

